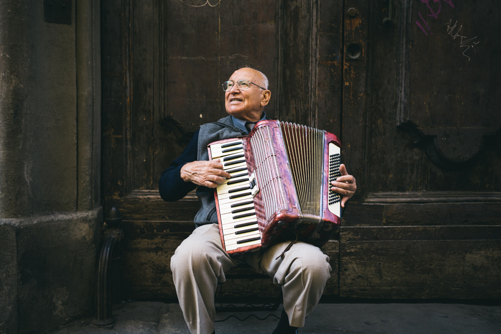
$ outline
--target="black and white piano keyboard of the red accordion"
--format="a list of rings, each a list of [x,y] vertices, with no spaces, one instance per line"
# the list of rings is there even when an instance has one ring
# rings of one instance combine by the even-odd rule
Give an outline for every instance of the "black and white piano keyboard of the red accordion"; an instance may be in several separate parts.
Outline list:
[[[220,228],[226,251],[261,245],[261,233],[251,192],[242,140],[209,146],[211,159],[220,159],[231,178],[216,188]]]

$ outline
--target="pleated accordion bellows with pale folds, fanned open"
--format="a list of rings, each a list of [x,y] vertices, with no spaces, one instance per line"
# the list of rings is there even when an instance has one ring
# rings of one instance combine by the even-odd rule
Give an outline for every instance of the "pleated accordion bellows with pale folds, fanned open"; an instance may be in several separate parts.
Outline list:
[[[324,131],[287,122],[281,122],[281,130],[301,215],[306,221],[318,221],[323,191]]]

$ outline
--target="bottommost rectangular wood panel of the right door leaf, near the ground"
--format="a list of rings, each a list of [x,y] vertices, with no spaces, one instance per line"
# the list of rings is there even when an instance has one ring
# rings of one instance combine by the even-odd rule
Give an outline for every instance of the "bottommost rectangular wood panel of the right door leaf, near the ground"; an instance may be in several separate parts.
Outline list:
[[[499,236],[499,226],[345,227],[340,296],[499,298]]]

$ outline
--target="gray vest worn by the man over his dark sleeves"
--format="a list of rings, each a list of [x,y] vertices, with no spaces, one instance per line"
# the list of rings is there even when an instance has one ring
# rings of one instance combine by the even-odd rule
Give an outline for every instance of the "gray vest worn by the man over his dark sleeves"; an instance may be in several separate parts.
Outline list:
[[[244,135],[240,130],[234,128],[230,116],[221,118],[217,122],[225,124],[229,128],[215,123],[204,124],[200,127],[200,132],[198,133],[198,161],[209,160],[207,145],[211,142]],[[195,215],[195,226],[217,223],[214,189],[199,186],[196,194],[200,200],[201,207]]]

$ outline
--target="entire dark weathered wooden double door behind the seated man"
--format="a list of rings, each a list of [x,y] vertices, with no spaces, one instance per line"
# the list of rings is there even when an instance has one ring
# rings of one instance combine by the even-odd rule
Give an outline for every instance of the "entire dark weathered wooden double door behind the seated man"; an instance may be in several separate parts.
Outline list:
[[[498,297],[499,5],[453,2],[103,0],[103,192],[126,295],[175,298],[169,259],[198,201],[163,202],[158,178],[251,66],[267,114],[337,134],[357,178],[323,248],[326,297]],[[275,293],[259,284],[226,291]]]

